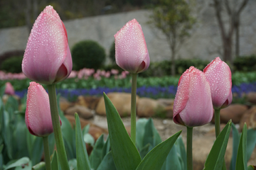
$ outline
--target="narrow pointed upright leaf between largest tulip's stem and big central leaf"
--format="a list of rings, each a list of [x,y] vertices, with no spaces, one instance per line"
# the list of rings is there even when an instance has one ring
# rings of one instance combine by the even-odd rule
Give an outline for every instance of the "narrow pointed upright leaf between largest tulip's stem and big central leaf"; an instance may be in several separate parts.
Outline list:
[[[78,113],[75,113],[75,144],[76,144],[78,170],[90,170],[91,169],[90,162],[89,162],[87,150],[85,147],[85,141],[83,140],[83,137],[82,137],[82,130],[81,130]]]

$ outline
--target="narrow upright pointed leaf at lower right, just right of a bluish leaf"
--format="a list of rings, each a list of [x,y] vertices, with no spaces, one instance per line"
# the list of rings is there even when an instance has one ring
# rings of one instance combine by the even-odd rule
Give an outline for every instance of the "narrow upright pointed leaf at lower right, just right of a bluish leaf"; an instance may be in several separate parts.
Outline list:
[[[246,145],[247,145],[247,125],[245,123],[244,127],[242,128],[242,135],[240,137],[240,142],[238,146],[238,156],[235,164],[236,170],[247,170]]]

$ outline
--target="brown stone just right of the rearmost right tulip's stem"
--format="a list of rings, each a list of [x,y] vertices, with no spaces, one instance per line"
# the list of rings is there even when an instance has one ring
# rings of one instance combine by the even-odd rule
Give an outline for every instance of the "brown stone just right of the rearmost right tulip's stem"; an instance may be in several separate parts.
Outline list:
[[[228,123],[230,119],[232,119],[232,122],[235,124],[240,123],[240,119],[245,111],[247,111],[247,106],[242,104],[231,104],[227,108],[220,110],[220,123]],[[212,123],[214,122],[213,115]]]

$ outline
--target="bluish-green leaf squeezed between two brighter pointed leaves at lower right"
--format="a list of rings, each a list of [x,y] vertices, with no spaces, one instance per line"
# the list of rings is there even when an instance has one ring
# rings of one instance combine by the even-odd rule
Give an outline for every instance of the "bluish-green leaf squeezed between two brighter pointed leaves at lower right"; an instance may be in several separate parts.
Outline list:
[[[235,128],[235,124],[232,123],[232,136],[233,136],[233,150],[232,150],[232,159],[230,162],[230,170],[235,170],[235,162],[238,155],[238,145],[240,140],[240,134],[238,129]]]

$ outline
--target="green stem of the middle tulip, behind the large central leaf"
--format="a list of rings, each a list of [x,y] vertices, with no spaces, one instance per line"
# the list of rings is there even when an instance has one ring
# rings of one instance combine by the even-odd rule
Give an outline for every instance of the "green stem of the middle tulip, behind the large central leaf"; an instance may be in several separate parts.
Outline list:
[[[131,99],[131,139],[136,145],[136,96],[137,73],[132,73],[132,99]]]

